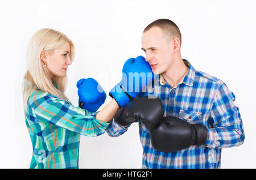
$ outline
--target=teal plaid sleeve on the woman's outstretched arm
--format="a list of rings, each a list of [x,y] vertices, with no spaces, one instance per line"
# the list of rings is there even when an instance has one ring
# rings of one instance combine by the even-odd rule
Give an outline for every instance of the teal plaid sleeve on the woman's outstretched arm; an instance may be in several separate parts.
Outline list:
[[[37,98],[35,93],[32,98],[32,113],[42,122],[48,122],[86,136],[101,135],[109,125],[109,123],[96,119],[98,112],[91,113],[58,97]]]

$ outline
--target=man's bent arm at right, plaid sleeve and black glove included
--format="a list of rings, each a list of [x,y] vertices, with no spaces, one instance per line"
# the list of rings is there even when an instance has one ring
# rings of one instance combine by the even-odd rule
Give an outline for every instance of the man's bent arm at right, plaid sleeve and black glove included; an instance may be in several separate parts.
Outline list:
[[[190,145],[206,145],[212,149],[241,145],[245,135],[234,100],[234,94],[222,84],[212,106],[212,128],[191,125],[175,117],[164,117],[158,126],[150,130],[152,146],[158,151],[174,152]]]

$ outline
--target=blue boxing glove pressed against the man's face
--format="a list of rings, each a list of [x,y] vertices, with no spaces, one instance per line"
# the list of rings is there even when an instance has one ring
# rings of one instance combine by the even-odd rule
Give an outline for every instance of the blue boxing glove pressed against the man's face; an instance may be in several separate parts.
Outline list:
[[[123,65],[122,72],[121,82],[109,92],[120,107],[133,100],[142,88],[155,78],[149,63],[142,56],[128,59]]]

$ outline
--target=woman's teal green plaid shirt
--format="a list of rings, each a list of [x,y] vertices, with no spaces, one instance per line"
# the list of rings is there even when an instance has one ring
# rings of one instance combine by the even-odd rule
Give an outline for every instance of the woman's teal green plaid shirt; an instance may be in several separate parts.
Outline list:
[[[32,92],[25,111],[33,153],[30,168],[79,168],[80,135],[98,136],[109,123],[47,92]]]

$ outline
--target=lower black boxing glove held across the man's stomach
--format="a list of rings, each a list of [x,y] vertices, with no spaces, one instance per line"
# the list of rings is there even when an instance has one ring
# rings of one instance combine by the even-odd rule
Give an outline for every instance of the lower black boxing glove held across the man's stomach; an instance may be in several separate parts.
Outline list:
[[[176,117],[164,117],[150,130],[152,147],[162,152],[174,152],[190,145],[203,145],[207,140],[207,128],[204,125],[191,125]]]

